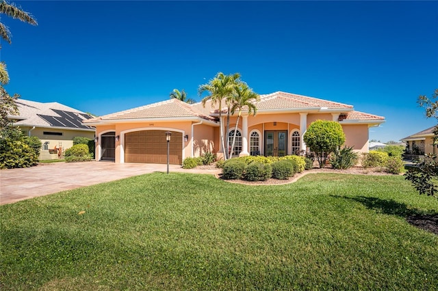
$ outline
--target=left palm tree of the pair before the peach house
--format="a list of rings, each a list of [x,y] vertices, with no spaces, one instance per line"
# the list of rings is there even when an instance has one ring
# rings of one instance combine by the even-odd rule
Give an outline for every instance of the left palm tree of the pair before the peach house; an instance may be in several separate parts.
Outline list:
[[[224,159],[228,158],[228,150],[225,150],[224,143],[224,127],[222,125],[222,100],[224,98],[232,98],[234,86],[236,80],[239,79],[240,74],[229,74],[226,75],[222,72],[218,72],[214,79],[210,80],[209,83],[200,85],[198,88],[198,94],[201,96],[204,92],[209,92],[209,96],[206,96],[201,101],[203,107],[205,107],[205,103],[210,100],[211,107],[215,107],[218,105],[219,111],[219,126],[220,126],[220,146],[224,152]]]

